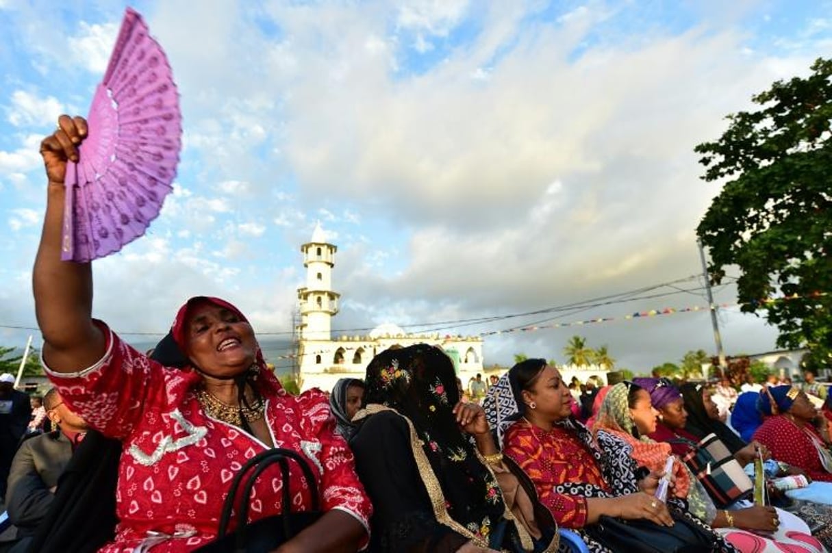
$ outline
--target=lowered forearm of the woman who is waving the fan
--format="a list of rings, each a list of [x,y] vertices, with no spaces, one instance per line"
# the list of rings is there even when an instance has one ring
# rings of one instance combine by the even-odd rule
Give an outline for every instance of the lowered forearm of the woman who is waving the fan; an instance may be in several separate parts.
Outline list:
[[[364,525],[353,516],[344,511],[329,511],[273,553],[352,553],[359,551],[366,536]]]

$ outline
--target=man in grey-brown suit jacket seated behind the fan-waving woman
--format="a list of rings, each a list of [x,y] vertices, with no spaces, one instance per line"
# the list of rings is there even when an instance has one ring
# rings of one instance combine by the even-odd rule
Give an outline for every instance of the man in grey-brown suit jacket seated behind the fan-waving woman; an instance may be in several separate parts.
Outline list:
[[[26,550],[52,505],[58,479],[87,433],[87,422],[69,410],[55,388],[43,397],[43,404],[47,417],[58,429],[27,439],[14,456],[8,477],[7,510],[21,542],[12,551]]]

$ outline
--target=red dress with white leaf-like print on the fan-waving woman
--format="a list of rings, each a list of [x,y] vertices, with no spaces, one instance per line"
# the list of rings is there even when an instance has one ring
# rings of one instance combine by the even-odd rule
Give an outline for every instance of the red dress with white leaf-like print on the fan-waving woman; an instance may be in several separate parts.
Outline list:
[[[215,537],[235,471],[267,447],[239,427],[206,415],[195,394],[198,373],[164,368],[98,324],[107,336],[106,354],[98,363],[72,374],[47,368],[47,374],[72,411],[123,445],[116,490],[120,523],[115,541],[101,551],[126,553],[139,546],[143,549],[136,551],[192,551]],[[309,458],[324,511],[339,509],[369,529],[372,506],[355,474],[352,452],[334,432],[324,393],[293,397],[270,372],[259,378],[270,392],[264,393],[265,419],[275,447]],[[260,476],[250,501],[252,519],[282,511],[282,486],[278,467]],[[309,487],[295,463],[290,492],[293,511],[311,508]]]

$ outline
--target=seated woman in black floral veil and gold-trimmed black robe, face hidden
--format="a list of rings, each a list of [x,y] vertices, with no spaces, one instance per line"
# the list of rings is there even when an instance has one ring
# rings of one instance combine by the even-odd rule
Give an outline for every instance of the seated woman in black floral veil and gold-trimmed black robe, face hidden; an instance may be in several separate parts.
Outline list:
[[[553,523],[529,536],[513,520],[489,466],[502,463],[483,409],[460,401],[441,349],[379,353],[365,384],[349,445],[375,509],[371,551],[532,551],[547,531],[538,545],[551,545]]]

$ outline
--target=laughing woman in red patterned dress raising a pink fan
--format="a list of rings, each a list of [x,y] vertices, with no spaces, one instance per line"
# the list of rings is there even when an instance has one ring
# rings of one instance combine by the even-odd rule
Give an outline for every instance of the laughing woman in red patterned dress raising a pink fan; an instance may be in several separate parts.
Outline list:
[[[63,180],[86,136],[86,121],[61,116],[41,143],[47,213],[33,284],[47,374],[73,412],[123,445],[120,524],[102,551],[179,553],[210,542],[235,471],[271,447],[309,459],[324,511],[278,551],[357,551],[369,538],[371,506],[327,399],[285,393],[238,309],[205,297],[180,309],[171,335],[188,359],[183,370],[151,361],[92,319],[92,265],[61,261]],[[285,484],[295,511],[311,508],[299,469],[284,482],[270,467],[250,498],[252,519],[282,511]]]

